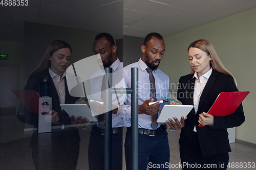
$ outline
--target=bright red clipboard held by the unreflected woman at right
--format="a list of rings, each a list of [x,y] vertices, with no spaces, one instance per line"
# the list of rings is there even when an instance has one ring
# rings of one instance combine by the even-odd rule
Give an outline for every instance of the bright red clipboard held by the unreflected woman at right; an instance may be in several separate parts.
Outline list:
[[[237,110],[250,91],[221,92],[208,114],[213,116],[226,116]],[[204,127],[199,125],[199,127]]]

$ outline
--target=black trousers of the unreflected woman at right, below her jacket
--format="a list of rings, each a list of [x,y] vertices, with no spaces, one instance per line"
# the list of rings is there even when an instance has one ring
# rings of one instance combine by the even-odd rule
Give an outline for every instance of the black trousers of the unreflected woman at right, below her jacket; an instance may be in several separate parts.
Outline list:
[[[209,144],[209,147],[210,144]],[[183,169],[227,169],[228,153],[218,153],[203,157],[197,132],[193,132],[189,154],[180,148],[180,159]]]

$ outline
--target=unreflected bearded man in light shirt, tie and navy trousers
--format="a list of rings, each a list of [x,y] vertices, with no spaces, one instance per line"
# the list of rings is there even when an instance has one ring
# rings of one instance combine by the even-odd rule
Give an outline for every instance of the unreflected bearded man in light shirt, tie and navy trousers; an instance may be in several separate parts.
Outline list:
[[[169,144],[165,123],[157,123],[156,119],[164,104],[150,102],[164,100],[169,97],[169,78],[158,69],[163,54],[165,43],[158,33],[150,33],[145,37],[141,46],[142,58],[138,62],[123,68],[123,77],[126,88],[131,88],[131,68],[138,67],[138,96],[139,96],[139,169],[151,169],[153,164],[165,164],[169,162]],[[123,105],[123,124],[127,127],[125,138],[126,169],[131,169],[131,94],[127,94],[127,100]],[[160,168],[166,169],[166,168]],[[168,169],[168,168],[167,168]]]

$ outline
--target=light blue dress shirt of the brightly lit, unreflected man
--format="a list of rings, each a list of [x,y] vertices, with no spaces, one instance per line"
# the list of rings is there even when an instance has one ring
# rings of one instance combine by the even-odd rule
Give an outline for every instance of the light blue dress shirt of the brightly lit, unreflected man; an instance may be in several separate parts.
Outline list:
[[[137,67],[139,72],[138,77],[138,97],[139,97],[139,105],[142,105],[145,100],[151,99],[151,91],[150,91],[150,77],[148,72],[146,71],[146,68],[148,67],[144,61],[139,59],[138,62],[127,65],[123,68],[123,78],[126,88],[131,88],[131,68]],[[156,98],[157,101],[165,100],[164,96],[169,97],[169,77],[160,69],[156,69],[152,71],[152,74],[155,78],[156,83]],[[121,117],[123,117],[123,124],[125,127],[131,126],[131,94],[127,94],[127,100],[125,102],[125,105],[123,105],[123,112],[120,114]],[[168,102],[162,103],[159,107],[158,115],[162,111],[162,108],[165,104],[169,104]],[[143,129],[153,129],[152,128],[152,116],[147,114],[139,114],[139,128]],[[161,124],[165,123],[158,123],[158,127],[161,126]]]

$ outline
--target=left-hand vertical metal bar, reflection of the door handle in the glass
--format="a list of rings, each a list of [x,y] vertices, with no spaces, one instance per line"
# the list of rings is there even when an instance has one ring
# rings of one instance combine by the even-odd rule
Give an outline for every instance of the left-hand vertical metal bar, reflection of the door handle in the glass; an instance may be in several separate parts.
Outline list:
[[[105,141],[104,141],[104,169],[111,170],[112,163],[112,68],[105,68]]]

